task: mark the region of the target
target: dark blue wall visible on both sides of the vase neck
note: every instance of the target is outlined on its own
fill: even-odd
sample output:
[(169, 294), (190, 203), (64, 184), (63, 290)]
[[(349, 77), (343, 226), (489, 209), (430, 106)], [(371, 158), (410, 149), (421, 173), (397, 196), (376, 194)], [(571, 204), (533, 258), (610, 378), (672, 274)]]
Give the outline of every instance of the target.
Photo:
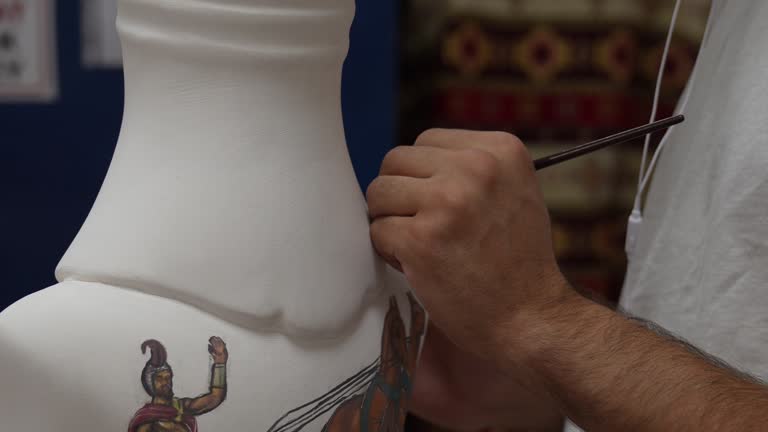
[[(0, 311), (53, 285), (117, 141), (122, 74), (80, 66), (80, 12), (58, 2), (60, 100), (0, 105)], [(358, 0), (343, 106), (361, 186), (395, 140), (395, 3)]]

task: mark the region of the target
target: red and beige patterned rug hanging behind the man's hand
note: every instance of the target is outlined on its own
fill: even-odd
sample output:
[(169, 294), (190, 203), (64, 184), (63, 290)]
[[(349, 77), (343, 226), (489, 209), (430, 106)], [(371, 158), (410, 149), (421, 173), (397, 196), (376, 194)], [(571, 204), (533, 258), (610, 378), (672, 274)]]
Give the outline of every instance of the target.
[[(673, 2), (413, 0), (403, 17), (400, 142), (423, 130), (505, 130), (534, 156), (648, 121)], [(673, 111), (709, 11), (684, 3), (660, 115)], [(576, 285), (615, 299), (641, 143), (541, 175)]]

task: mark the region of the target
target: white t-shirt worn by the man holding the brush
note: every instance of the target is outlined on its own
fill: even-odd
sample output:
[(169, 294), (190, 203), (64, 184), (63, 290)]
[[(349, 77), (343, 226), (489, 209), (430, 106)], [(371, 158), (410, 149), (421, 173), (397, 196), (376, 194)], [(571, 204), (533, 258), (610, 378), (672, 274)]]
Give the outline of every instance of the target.
[(768, 2), (713, 1), (685, 98), (621, 304), (768, 378)]

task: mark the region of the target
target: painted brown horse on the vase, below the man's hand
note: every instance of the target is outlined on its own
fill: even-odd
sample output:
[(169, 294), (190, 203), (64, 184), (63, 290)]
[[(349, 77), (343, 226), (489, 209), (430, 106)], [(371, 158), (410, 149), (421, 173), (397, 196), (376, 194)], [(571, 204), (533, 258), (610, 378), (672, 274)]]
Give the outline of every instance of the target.
[(410, 337), (400, 317), (397, 301), (390, 299), (381, 338), (381, 364), (366, 392), (347, 400), (323, 432), (402, 432), (408, 411), (413, 371), (426, 326), (421, 305), (408, 296), (411, 306)]

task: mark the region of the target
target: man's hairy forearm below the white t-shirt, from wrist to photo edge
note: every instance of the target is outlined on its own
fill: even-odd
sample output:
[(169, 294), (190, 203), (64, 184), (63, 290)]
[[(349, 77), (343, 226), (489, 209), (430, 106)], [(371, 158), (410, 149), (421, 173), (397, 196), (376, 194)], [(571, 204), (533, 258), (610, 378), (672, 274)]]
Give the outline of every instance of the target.
[(752, 431), (768, 391), (748, 377), (606, 307), (574, 296), (515, 336), (510, 357), (592, 432)]

